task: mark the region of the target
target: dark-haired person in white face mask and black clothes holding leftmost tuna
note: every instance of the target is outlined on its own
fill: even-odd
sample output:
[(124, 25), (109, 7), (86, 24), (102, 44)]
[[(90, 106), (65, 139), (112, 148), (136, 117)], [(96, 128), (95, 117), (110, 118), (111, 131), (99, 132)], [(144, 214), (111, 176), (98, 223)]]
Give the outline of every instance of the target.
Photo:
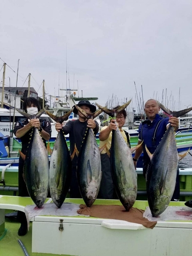
[[(37, 99), (33, 97), (28, 97), (24, 100), (23, 109), (26, 113), (30, 115), (35, 115), (40, 111), (40, 104)], [(39, 133), (46, 146), (46, 140), (51, 138), (51, 123), (49, 121), (42, 120), (43, 118), (28, 119), (26, 118), (22, 122), (16, 122), (14, 125), (13, 133), (17, 138), (22, 141), (22, 153), (26, 155), (27, 147), (31, 138), (31, 133), (33, 127), (39, 130)], [(23, 167), (24, 160), (19, 156), (19, 166), (18, 166), (18, 196), (29, 197), (27, 186), (23, 178)], [(27, 219), (25, 213), (18, 211), (17, 220), (21, 223), (18, 229), (18, 235), (24, 236), (27, 233)]]

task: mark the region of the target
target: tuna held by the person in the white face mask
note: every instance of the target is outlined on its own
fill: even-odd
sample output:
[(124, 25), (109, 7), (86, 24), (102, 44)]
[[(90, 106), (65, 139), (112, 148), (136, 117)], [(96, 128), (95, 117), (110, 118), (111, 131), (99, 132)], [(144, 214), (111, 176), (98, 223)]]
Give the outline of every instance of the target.
[[(17, 111), (29, 119), (38, 118), (44, 113), (44, 110), (41, 110), (32, 116), (18, 109)], [(49, 191), (49, 158), (42, 137), (35, 127), (32, 129), (25, 156), (24, 174), (28, 193), (36, 206), (40, 208)]]

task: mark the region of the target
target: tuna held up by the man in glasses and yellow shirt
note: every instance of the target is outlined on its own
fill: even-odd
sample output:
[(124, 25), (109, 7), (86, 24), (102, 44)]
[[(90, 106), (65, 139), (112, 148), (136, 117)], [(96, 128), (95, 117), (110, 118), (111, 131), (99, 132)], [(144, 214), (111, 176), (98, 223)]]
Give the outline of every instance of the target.
[[(109, 110), (98, 105), (106, 114), (116, 116), (129, 105), (131, 100), (116, 110)], [(119, 200), (126, 210), (130, 210), (137, 197), (137, 173), (135, 170), (132, 151), (124, 141), (119, 129), (112, 131), (111, 171), (115, 190)]]

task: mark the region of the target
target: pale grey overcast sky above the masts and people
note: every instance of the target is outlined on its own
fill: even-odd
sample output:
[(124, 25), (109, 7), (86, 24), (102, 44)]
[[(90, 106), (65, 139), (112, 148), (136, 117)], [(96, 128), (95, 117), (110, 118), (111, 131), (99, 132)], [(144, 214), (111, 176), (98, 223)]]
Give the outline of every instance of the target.
[(156, 98), (172, 110), (187, 108), (191, 10), (191, 0), (2, 0), (0, 77), (5, 61), (15, 87), (19, 59), (17, 86), (27, 87), (31, 73), (39, 96), (45, 79), (48, 97), (67, 86), (101, 105), (132, 98), (137, 111), (142, 98)]

